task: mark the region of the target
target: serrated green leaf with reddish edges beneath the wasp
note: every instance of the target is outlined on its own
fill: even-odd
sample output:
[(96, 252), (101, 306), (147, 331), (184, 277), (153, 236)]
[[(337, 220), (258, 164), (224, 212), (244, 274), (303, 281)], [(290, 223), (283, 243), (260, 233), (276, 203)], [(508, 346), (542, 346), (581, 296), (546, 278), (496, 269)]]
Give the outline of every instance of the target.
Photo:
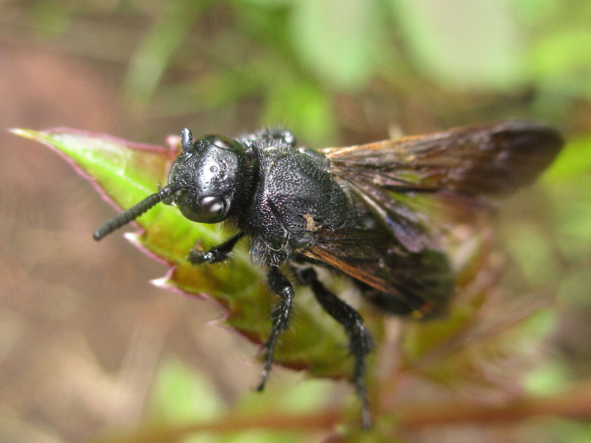
[[(57, 128), (12, 132), (56, 150), (86, 177), (105, 200), (130, 207), (165, 183), (178, 144), (135, 144), (106, 135)], [(228, 310), (224, 321), (254, 343), (263, 343), (271, 328), (269, 313), (274, 297), (264, 284), (264, 273), (245, 251), (245, 242), (228, 263), (194, 266), (186, 255), (199, 240), (205, 247), (220, 243), (229, 233), (218, 227), (193, 223), (176, 207), (158, 204), (137, 219), (140, 232), (126, 239), (148, 255), (170, 266), (154, 284), (190, 295), (207, 294)], [(91, 233), (89, 232), (89, 239)], [(94, 245), (94, 247), (100, 247)], [(338, 283), (338, 281), (337, 281)], [(324, 315), (309, 292), (298, 290), (294, 320), (280, 340), (275, 361), (309, 369), (316, 376), (347, 376), (352, 367), (342, 328)], [(367, 319), (371, 323), (371, 315)], [(376, 327), (379, 331), (379, 328)]]

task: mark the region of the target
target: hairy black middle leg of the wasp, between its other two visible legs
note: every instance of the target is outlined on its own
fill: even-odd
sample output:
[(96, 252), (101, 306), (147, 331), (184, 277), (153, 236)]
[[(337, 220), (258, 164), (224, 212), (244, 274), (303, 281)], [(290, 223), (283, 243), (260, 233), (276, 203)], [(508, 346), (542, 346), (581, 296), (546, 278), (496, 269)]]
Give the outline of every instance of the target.
[(263, 390), (265, 387), (269, 372), (271, 372), (275, 344), (277, 344), (279, 334), (287, 329), (290, 320), (291, 302), (294, 298), (293, 286), (291, 286), (290, 281), (281, 273), (277, 266), (271, 266), (271, 269), (269, 269), (269, 273), (267, 274), (267, 284), (271, 288), (273, 294), (278, 295), (279, 300), (271, 312), (273, 326), (271, 328), (269, 340), (267, 340), (267, 343), (265, 343), (264, 346), (265, 366), (261, 374), (261, 383), (256, 387), (256, 390), (259, 391)]

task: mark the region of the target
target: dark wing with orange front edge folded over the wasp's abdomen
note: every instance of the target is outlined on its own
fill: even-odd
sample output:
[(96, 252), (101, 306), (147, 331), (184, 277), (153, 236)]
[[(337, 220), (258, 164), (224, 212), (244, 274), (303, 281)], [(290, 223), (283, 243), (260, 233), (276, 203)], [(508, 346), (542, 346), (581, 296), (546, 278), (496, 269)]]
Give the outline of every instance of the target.
[(441, 251), (407, 252), (383, 227), (365, 232), (320, 229), (305, 250), (361, 282), (365, 297), (384, 310), (415, 318), (439, 317), (454, 291), (450, 263)]

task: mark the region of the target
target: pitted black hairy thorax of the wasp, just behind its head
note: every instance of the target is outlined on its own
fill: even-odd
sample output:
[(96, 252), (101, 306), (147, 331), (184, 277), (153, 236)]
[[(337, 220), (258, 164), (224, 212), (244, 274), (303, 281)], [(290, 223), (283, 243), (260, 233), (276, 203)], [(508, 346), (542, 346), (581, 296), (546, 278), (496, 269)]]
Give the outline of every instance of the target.
[(352, 204), (327, 170), (327, 160), (310, 149), (256, 146), (258, 180), (251, 201), (237, 221), (252, 239), (252, 250), (262, 263), (279, 264), (314, 244), (314, 232), (345, 226)]

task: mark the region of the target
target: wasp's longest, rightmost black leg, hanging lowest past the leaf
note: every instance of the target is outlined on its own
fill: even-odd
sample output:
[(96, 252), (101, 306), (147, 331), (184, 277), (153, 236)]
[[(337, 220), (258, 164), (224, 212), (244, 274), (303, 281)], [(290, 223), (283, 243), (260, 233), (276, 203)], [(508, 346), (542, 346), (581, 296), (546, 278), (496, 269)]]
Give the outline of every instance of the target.
[(311, 287), (314, 297), (316, 297), (324, 311), (328, 312), (332, 318), (342, 324), (349, 334), (349, 350), (355, 358), (352, 381), (355, 383), (357, 395), (361, 398), (362, 425), (363, 428), (367, 429), (371, 427), (371, 415), (368, 409), (368, 398), (363, 375), (365, 374), (365, 357), (374, 348), (374, 340), (372, 340), (371, 333), (365, 327), (363, 318), (359, 315), (359, 312), (328, 291), (322, 282), (319, 281), (316, 271), (313, 268), (297, 269), (296, 275), (302, 284)]

